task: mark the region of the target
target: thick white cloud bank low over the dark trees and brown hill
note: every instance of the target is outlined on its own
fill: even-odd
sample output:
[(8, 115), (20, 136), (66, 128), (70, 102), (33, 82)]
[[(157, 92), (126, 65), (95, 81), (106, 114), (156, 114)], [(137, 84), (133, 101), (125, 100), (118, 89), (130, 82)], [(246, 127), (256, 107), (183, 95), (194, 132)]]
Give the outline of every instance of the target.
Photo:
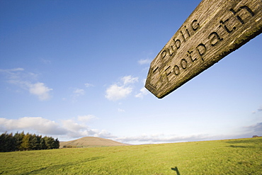
[[(93, 115), (86, 115), (93, 118)], [(85, 120), (84, 116), (79, 117)], [(77, 123), (75, 120), (61, 120), (61, 123), (40, 117), (24, 117), (18, 119), (0, 118), (0, 132), (33, 132), (38, 135), (55, 135), (56, 137), (67, 137), (73, 139), (76, 137), (96, 136), (96, 137), (114, 137), (106, 130), (89, 129), (89, 126), (83, 123)]]

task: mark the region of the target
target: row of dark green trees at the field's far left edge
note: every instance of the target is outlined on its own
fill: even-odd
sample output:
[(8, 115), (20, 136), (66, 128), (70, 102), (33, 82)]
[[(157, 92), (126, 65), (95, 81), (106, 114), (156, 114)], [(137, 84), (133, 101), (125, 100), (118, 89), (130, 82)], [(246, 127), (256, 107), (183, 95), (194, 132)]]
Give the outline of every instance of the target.
[(0, 135), (0, 152), (57, 148), (59, 148), (59, 140), (53, 137), (42, 137), (42, 135), (25, 134), (24, 132), (16, 132), (14, 135), (4, 132)]

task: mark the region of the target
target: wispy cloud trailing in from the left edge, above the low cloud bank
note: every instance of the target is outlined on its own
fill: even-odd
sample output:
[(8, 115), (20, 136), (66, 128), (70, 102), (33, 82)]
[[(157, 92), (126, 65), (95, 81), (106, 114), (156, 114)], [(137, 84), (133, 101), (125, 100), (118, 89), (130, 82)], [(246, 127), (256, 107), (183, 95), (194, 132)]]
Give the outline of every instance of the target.
[(52, 89), (44, 83), (37, 81), (38, 74), (25, 72), (23, 68), (0, 69), (0, 72), (6, 74), (8, 83), (15, 84), (28, 91), (30, 94), (38, 96), (40, 101), (48, 100), (51, 97), (50, 91), (52, 91)]

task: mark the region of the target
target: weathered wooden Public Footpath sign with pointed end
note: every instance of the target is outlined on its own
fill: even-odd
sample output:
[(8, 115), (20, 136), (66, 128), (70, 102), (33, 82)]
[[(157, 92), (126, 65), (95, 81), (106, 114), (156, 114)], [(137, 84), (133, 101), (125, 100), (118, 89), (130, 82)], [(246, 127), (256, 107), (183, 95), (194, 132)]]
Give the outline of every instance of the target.
[(261, 32), (261, 0), (203, 0), (152, 61), (145, 87), (163, 98)]

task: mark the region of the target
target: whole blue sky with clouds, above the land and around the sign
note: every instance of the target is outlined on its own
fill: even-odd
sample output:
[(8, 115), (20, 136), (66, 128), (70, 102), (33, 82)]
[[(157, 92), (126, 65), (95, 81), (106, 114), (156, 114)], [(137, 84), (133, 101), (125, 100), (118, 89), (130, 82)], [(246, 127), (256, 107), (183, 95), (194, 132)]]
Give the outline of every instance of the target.
[(258, 35), (158, 99), (149, 64), (200, 1), (0, 1), (0, 132), (130, 144), (262, 135)]

